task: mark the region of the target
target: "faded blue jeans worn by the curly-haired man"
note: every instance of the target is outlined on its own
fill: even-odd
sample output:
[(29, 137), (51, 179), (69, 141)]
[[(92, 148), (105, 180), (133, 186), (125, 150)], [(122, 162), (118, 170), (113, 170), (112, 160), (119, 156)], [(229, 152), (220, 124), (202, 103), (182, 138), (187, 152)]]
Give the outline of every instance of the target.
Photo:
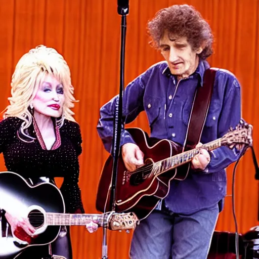
[(131, 259), (206, 259), (219, 206), (192, 214), (154, 210), (133, 234)]

